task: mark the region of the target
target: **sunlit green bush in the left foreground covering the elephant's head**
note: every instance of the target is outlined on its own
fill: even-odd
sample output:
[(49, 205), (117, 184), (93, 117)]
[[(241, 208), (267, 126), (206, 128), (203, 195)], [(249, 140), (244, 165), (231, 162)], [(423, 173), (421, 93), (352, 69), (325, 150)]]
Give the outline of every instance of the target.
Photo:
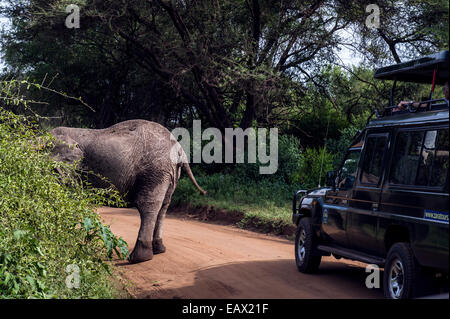
[[(81, 182), (75, 166), (53, 161), (50, 143), (0, 106), (0, 298), (121, 296), (107, 260), (113, 252), (126, 257), (127, 246), (96, 208), (123, 202), (112, 189)], [(73, 178), (63, 179), (57, 166)], [(79, 269), (78, 288), (66, 285), (70, 265)]]

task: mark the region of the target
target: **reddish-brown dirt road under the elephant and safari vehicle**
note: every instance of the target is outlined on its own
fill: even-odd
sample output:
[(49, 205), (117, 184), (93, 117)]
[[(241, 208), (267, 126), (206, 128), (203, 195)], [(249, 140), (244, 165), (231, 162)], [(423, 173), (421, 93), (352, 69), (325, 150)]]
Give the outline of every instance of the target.
[[(133, 209), (101, 208), (103, 220), (132, 249), (139, 229)], [(166, 253), (117, 264), (137, 298), (382, 298), (365, 286), (365, 264), (325, 257), (320, 272), (301, 274), (294, 244), (232, 226), (168, 216)]]

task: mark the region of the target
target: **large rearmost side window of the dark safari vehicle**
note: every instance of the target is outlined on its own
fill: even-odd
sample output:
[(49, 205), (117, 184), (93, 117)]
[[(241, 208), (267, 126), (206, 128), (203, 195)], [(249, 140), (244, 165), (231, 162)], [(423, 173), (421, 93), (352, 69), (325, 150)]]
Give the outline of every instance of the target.
[(399, 132), (394, 154), (390, 183), (428, 187), (446, 185), (448, 129)]

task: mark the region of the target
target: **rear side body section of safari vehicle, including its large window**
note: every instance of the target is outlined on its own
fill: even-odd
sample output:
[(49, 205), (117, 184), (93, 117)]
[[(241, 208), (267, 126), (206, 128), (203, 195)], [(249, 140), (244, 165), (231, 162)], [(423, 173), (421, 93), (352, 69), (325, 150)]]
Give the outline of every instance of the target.
[[(448, 123), (398, 129), (380, 210), (414, 227), (416, 258), (429, 267), (448, 267), (448, 167)], [(392, 223), (380, 219), (380, 239)]]

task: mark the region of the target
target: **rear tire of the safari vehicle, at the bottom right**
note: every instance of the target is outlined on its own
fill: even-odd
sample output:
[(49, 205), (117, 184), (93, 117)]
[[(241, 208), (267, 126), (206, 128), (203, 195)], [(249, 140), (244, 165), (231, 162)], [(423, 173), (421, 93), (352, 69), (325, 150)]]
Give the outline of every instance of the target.
[(388, 252), (383, 275), (384, 296), (388, 299), (414, 298), (419, 293), (420, 266), (409, 243), (396, 243)]

